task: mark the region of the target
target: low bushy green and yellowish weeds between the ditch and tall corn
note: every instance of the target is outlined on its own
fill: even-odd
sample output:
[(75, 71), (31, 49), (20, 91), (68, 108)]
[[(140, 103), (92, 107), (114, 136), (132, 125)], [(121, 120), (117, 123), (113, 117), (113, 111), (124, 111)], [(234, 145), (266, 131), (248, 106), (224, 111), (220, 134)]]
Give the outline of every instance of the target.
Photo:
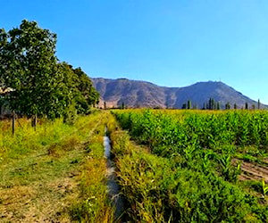
[[(142, 123), (148, 124), (146, 121)], [(155, 123), (161, 122), (158, 119)], [(130, 123), (124, 122), (124, 124)], [(149, 129), (159, 131), (152, 126), (144, 127), (147, 131)], [(129, 205), (130, 220), (136, 222), (267, 221), (268, 210), (260, 206), (255, 197), (246, 194), (238, 186), (225, 181), (212, 171), (207, 171), (205, 166), (205, 169), (202, 169), (202, 165), (205, 165), (203, 160), (206, 160), (208, 165), (208, 162), (216, 159), (213, 151), (210, 151), (211, 153), (193, 152), (199, 156), (198, 159), (190, 157), (192, 154), (190, 152), (188, 157), (176, 154), (161, 157), (132, 144), (126, 132), (113, 129), (111, 139), (121, 192)], [(145, 139), (139, 137), (141, 142)], [(190, 150), (189, 146), (187, 148)], [(154, 150), (153, 147), (151, 149)], [(193, 163), (189, 164), (187, 159), (192, 160)], [(223, 167), (224, 164), (222, 169)]]

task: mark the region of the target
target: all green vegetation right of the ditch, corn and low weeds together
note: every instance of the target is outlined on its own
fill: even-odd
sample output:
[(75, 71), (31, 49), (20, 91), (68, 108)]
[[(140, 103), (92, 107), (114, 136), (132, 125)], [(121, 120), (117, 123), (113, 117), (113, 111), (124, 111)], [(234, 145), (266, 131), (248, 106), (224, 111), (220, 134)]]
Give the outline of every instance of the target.
[[(114, 111), (122, 128), (151, 153), (112, 135), (122, 193), (130, 218), (172, 222), (266, 222), (262, 198), (236, 180), (238, 148), (254, 145), (266, 153), (265, 111)], [(130, 149), (131, 148), (131, 149)], [(132, 214), (131, 214), (132, 213)], [(136, 217), (135, 217), (136, 216)], [(135, 219), (138, 218), (138, 219)]]

